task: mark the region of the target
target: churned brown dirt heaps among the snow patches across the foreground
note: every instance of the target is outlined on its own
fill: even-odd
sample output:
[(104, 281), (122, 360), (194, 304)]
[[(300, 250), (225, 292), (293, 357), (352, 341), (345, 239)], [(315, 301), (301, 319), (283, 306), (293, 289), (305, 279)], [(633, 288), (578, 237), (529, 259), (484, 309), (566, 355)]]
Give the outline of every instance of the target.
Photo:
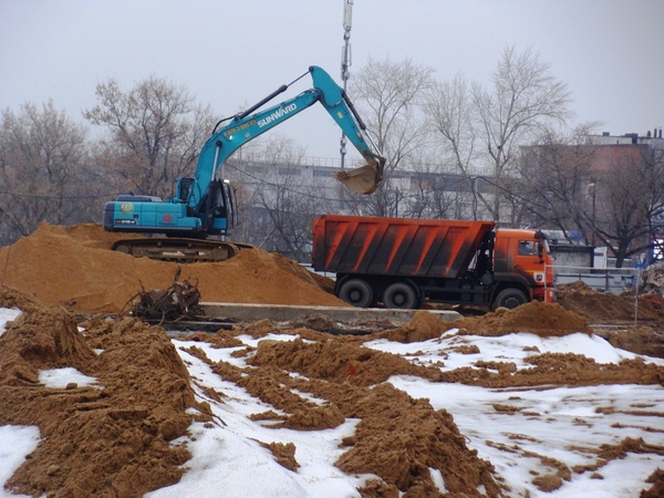
[[(194, 380), (160, 328), (134, 319), (95, 318), (82, 323), (85, 330), (81, 333), (71, 313), (42, 307), (33, 297), (3, 288), (0, 288), (0, 307), (25, 310), (0, 336), (0, 424), (37, 425), (42, 438), (9, 481), (12, 491), (32, 496), (131, 498), (179, 480), (190, 455), (186, 446), (170, 446), (169, 442), (185, 434), (194, 419), (210, 422), (210, 409), (195, 400), (190, 385)], [(487, 315), (485, 321), (492, 320), (498, 328), (502, 323), (507, 330), (508, 323), (518, 323), (519, 315), (525, 320), (532, 310), (559, 313), (557, 323), (575, 320), (573, 313), (564, 315), (558, 311), (559, 307), (536, 305), (530, 311), (523, 308), (521, 314), (500, 312), (492, 318)], [(477, 328), (481, 332), (484, 322), (476, 323), (481, 325)], [(449, 323), (423, 311), (401, 330), (406, 340), (429, 336), (435, 341), (448, 326)], [(469, 338), (466, 335), (469, 326), (458, 338)], [(257, 347), (237, 349), (243, 344), (240, 335), (264, 338), (281, 333), (302, 339), (263, 339)], [(437, 496), (438, 488), (428, 469), (440, 471), (449, 496), (510, 494), (494, 466), (468, 448), (450, 414), (386, 383), (392, 375), (491, 387), (652, 384), (662, 383), (663, 378), (663, 367), (641, 361), (599, 365), (579, 355), (538, 351), (531, 351), (527, 359), (532, 369), (519, 372), (513, 365), (481, 360), (473, 369), (442, 372), (436, 365), (408, 362), (401, 355), (364, 346), (365, 341), (384, 334), (330, 336), (307, 329), (281, 330), (262, 320), (231, 331), (188, 336), (216, 347), (235, 349), (234, 356), (246, 357), (246, 367), (212, 361), (197, 346), (187, 347), (187, 352), (204, 360), (225, 381), (238, 384), (270, 406), (253, 414), (253, 419), (270, 421), (276, 427), (292, 430), (324, 429), (338, 427), (349, 418), (359, 419), (353, 436), (342, 442), (344, 453), (335, 465), (349, 474), (380, 476), (382, 480), (370, 480), (359, 490), (366, 497)], [(449, 347), (454, 343), (448, 343)], [(440, 346), (447, 347), (443, 343)], [(39, 382), (39, 371), (54, 366), (75, 367), (94, 377), (96, 384), (46, 388)], [(317, 401), (301, 393), (310, 393)], [(206, 388), (206, 395), (220, 402), (225, 394), (210, 387)], [(520, 408), (497, 405), (495, 409), (511, 413)], [(625, 452), (661, 450), (661, 447), (644, 447), (643, 442), (631, 443), (630, 448), (616, 446), (611, 454), (611, 448), (599, 448), (604, 458), (602, 465), (622, 458)], [(264, 446), (281, 465), (298, 468), (294, 445), (266, 443)], [(560, 480), (571, 471), (583, 470), (554, 464), (560, 464), (560, 476), (544, 477)], [(653, 479), (656, 483), (652, 492), (656, 492), (661, 479)], [(541, 476), (533, 483), (541, 490), (560, 486)]]

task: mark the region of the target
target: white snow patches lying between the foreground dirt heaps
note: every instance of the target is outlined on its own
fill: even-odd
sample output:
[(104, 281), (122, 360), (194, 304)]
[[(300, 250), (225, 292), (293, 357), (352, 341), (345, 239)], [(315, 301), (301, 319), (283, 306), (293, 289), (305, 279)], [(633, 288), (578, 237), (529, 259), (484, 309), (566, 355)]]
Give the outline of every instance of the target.
[[(18, 310), (0, 309), (0, 334), (7, 321), (15, 319)], [(247, 345), (257, 341), (248, 335), (239, 336)], [(290, 341), (294, 335), (271, 335), (268, 339)], [(455, 345), (473, 343), (478, 354), (460, 354), (450, 351)], [(250, 396), (243, 388), (224, 381), (210, 367), (183, 349), (196, 345), (212, 361), (224, 360), (243, 366), (242, 357), (231, 355), (235, 349), (215, 349), (201, 342), (174, 340), (178, 353), (189, 369), (197, 395), (210, 404), (218, 424), (204, 428), (195, 423), (191, 436), (175, 440), (187, 444), (193, 458), (187, 461), (189, 470), (177, 485), (146, 495), (149, 498), (180, 496), (206, 497), (354, 497), (355, 491), (372, 476), (347, 476), (334, 461), (342, 450), (342, 438), (353, 434), (359, 421), (347, 419), (334, 429), (299, 432), (273, 429), (268, 422), (253, 422), (251, 414), (273, 409)], [(499, 338), (456, 336), (446, 333), (439, 340), (402, 344), (385, 340), (365, 344), (380, 351), (400, 354), (421, 364), (436, 363), (443, 370), (470, 366), (479, 359), (513, 362), (518, 369), (528, 367), (525, 347), (544, 352), (574, 352), (594, 359), (599, 363), (616, 363), (636, 356), (611, 346), (598, 336), (572, 334), (563, 338), (539, 338), (530, 333), (509, 334)], [(446, 350), (443, 355), (442, 351)], [(642, 356), (643, 357), (643, 356)], [(644, 357), (646, 362), (664, 364), (664, 360)], [(80, 385), (92, 383), (74, 369), (43, 371), (40, 380), (53, 387), (70, 382)], [(556, 387), (499, 390), (466, 386), (461, 384), (430, 383), (419, 377), (393, 376), (397, 388), (413, 397), (426, 397), (435, 408), (445, 408), (453, 416), (467, 445), (477, 449), (481, 458), (490, 460), (513, 496), (558, 497), (637, 497), (644, 481), (657, 467), (663, 468), (661, 457), (652, 454), (627, 454), (612, 460), (600, 469), (603, 478), (592, 473), (574, 474), (553, 492), (539, 491), (532, 484), (533, 473), (547, 474), (544, 458), (554, 458), (569, 467), (595, 461), (596, 455), (584, 448), (603, 444), (618, 444), (625, 437), (643, 438), (649, 444), (664, 445), (662, 432), (649, 430), (660, 418), (643, 414), (664, 413), (664, 390), (658, 385), (601, 385), (588, 387)], [(204, 387), (224, 393), (224, 403), (208, 398)], [(499, 411), (495, 406), (510, 406), (513, 411)], [(599, 407), (610, 407), (598, 412)], [(655, 419), (653, 419), (655, 418)], [(615, 427), (620, 426), (620, 430)], [(293, 443), (295, 459), (301, 465), (297, 473), (274, 461), (270, 450), (258, 440)], [(0, 483), (9, 479), (39, 443), (37, 427), (0, 426)], [(509, 450), (506, 450), (509, 449)], [(550, 473), (550, 468), (548, 469)], [(440, 487), (444, 484), (440, 479)], [(14, 497), (0, 489), (0, 497)]]

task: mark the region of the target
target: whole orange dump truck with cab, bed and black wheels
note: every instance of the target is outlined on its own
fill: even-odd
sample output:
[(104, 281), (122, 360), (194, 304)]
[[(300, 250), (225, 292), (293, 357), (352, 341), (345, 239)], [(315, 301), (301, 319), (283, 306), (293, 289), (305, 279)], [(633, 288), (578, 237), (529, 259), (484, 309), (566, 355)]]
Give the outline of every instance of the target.
[(543, 234), (492, 221), (325, 215), (313, 221), (312, 263), (336, 273), (335, 294), (363, 308), (553, 300)]

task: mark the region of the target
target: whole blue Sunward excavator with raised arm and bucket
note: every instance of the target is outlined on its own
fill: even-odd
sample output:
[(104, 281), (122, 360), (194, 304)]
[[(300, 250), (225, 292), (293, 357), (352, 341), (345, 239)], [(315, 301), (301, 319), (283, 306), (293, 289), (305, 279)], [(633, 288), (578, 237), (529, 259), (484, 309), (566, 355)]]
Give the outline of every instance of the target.
[[(232, 190), (220, 177), (222, 165), (239, 147), (317, 102), (325, 107), (366, 160), (365, 166), (343, 169), (333, 176), (357, 194), (373, 193), (383, 178), (385, 158), (366, 134), (366, 126), (343, 89), (321, 68), (309, 68), (309, 74), (313, 86), (295, 97), (258, 111), (294, 82), (281, 85), (248, 110), (217, 123), (200, 151), (196, 173), (178, 178), (172, 197), (121, 195), (106, 203), (105, 230), (165, 236), (132, 237), (118, 240), (112, 249), (136, 257), (191, 262), (221, 261), (250, 247), (208, 239), (209, 236), (230, 235), (236, 225)], [(226, 121), (230, 123), (220, 127)]]

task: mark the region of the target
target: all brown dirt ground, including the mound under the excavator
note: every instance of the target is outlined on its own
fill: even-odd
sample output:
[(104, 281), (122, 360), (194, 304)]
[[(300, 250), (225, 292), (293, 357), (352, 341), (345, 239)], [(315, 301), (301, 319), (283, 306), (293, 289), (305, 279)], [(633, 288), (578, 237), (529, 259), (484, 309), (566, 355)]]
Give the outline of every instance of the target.
[[(529, 455), (518, 438), (510, 447), (495, 444), (502, 452), (540, 458), (552, 469), (531, 475), (523, 488), (516, 490), (501, 477), (501, 469), (468, 446), (468, 437), (447, 411), (434, 409), (426, 398), (415, 400), (387, 382), (392, 375), (412, 375), (515, 393), (526, 386), (633, 384), (661, 388), (664, 366), (649, 361), (664, 359), (664, 304), (657, 293), (602, 294), (579, 283), (560, 289), (554, 304), (535, 302), (486, 312), (425, 303), (424, 310), (407, 320), (378, 315), (341, 320), (325, 312), (351, 309), (333, 295), (332, 280), (279, 255), (248, 249), (220, 263), (178, 266), (113, 252), (110, 247), (118, 238), (98, 225), (42, 225), (29, 237), (0, 248), (0, 308), (22, 311), (0, 335), (0, 426), (37, 426), (41, 435), (39, 446), (8, 479), (6, 492), (138, 497), (183, 478), (191, 454), (172, 442), (187, 435), (194, 423), (217, 424), (210, 403), (222, 404), (225, 393), (207, 390), (207, 402), (197, 394), (196, 380), (174, 346), (177, 328), (167, 333), (168, 328), (151, 325), (128, 313), (132, 299), (142, 289), (168, 288), (181, 267), (181, 277), (196, 284), (206, 303), (252, 304), (249, 315), (219, 324), (218, 331), (186, 331), (187, 344), (198, 342), (220, 350), (241, 345), (234, 354), (245, 359), (246, 367), (212, 362), (191, 345), (187, 354), (273, 406), (274, 411), (260, 417), (280, 426), (309, 432), (336, 427), (351, 418), (361, 421), (353, 437), (344, 439), (344, 453), (335, 464), (347, 475), (375, 476), (357, 486), (357, 496), (554, 492), (587, 471), (601, 479), (602, 466), (627, 453), (646, 454), (660, 463), (658, 470), (644, 476), (631, 496), (664, 496), (664, 412), (656, 403), (633, 407), (647, 413), (650, 422), (642, 429), (652, 434), (652, 439), (624, 437), (612, 447), (584, 448), (596, 455), (594, 468)], [(269, 320), (261, 310), (270, 307), (313, 308), (298, 318)], [(463, 339), (464, 344), (456, 346), (465, 349), (463, 354), (478, 354), (474, 336), (512, 333), (540, 338), (594, 334), (640, 356), (602, 365), (583, 355), (531, 351), (536, 366), (528, 373), (499, 357), (481, 357), (473, 369), (443, 372), (435, 364), (376, 353), (365, 345), (371, 341), (423, 343), (453, 334)], [(279, 334), (298, 339), (264, 339)], [(258, 340), (257, 346), (242, 343), (239, 338), (245, 336)], [(94, 376), (104, 388), (74, 384), (53, 390), (40, 382), (41, 371), (63, 367)], [(307, 402), (298, 395), (301, 392), (313, 393), (325, 403)], [(494, 408), (511, 409), (510, 414), (519, 411), (508, 405)], [(390, 427), (387, 433), (385, 427)], [(281, 466), (298, 471), (302, 463), (297, 461), (294, 447), (268, 446)], [(445, 491), (427, 468), (440, 470)]]

